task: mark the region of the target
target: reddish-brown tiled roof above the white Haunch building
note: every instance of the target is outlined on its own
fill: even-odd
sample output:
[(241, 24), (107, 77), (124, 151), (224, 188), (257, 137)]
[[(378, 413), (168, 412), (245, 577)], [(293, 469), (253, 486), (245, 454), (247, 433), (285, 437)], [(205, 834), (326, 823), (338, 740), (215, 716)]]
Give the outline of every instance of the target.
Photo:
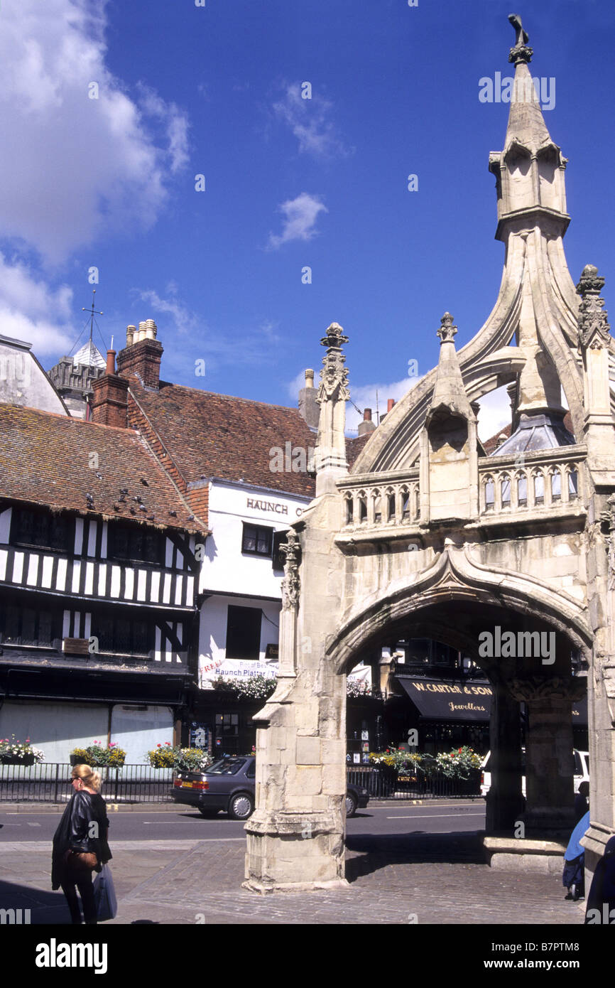
[[(130, 377), (130, 392), (186, 484), (203, 476), (223, 477), (314, 496), (314, 477), (270, 468), (271, 450), (283, 454), (289, 443), (290, 451), (305, 450), (307, 457), (316, 445), (316, 433), (298, 409), (166, 381), (156, 391), (144, 388), (134, 376)], [(130, 417), (131, 425), (137, 423), (138, 418)]]

